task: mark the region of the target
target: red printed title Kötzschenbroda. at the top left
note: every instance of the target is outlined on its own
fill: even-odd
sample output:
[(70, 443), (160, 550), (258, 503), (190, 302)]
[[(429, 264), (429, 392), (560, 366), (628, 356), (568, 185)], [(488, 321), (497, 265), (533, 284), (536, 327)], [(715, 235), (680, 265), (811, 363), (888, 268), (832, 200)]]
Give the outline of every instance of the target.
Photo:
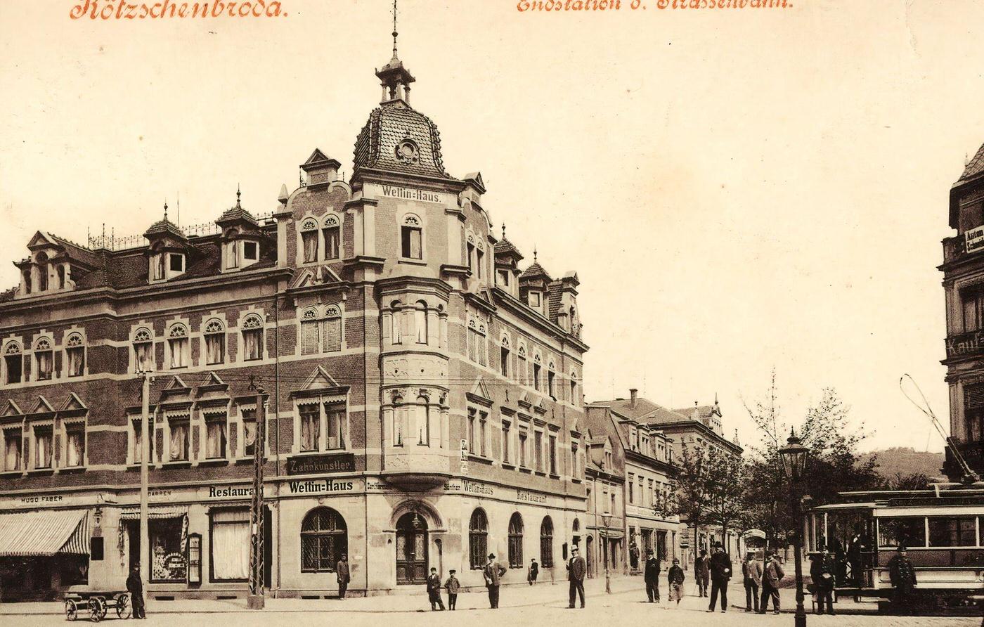
[(163, 18), (279, 18), (287, 13), (277, 0), (243, 2), (127, 2), (126, 0), (78, 0), (69, 17), (73, 20), (159, 20)]

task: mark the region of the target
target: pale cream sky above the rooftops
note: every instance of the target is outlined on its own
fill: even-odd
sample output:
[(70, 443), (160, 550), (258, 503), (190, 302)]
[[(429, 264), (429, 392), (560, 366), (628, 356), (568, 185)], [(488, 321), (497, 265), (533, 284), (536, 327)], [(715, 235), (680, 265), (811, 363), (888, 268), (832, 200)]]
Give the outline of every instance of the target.
[[(178, 195), (183, 224), (211, 221), (237, 184), (269, 211), (315, 147), (351, 172), (390, 3), (281, 3), (93, 22), (69, 19), (76, 0), (0, 2), (0, 285), (37, 229), (142, 233)], [(949, 426), (936, 266), (984, 142), (984, 3), (648, 4), (400, 0), (411, 103), (447, 168), (482, 172), (524, 263), (535, 245), (554, 276), (578, 272), (587, 399), (716, 392), (748, 442), (741, 399), (774, 366), (790, 415), (832, 386), (875, 429), (865, 448), (942, 450), (898, 378)]]

